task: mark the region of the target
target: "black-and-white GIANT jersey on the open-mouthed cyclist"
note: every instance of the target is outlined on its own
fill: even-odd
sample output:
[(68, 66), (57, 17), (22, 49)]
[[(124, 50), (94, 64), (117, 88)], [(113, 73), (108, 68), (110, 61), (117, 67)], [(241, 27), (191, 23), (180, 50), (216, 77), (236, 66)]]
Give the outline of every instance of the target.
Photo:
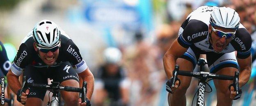
[[(215, 52), (209, 42), (210, 13), (219, 7), (202, 6), (194, 10), (181, 25), (178, 43), (185, 48), (195, 46), (203, 52)], [(245, 59), (251, 55), (251, 35), (240, 24), (235, 36), (220, 53), (237, 51), (237, 57)]]

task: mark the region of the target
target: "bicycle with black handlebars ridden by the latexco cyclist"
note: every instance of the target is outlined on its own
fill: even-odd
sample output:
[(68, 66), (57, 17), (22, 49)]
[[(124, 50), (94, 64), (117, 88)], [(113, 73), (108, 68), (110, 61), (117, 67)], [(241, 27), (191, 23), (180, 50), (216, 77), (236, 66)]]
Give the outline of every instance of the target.
[[(87, 82), (83, 82), (82, 88), (72, 87), (72, 86), (60, 86), (59, 82), (51, 82), (52, 84), (35, 84), (35, 83), (28, 83), (26, 80), (26, 76), (23, 77), (22, 82), (22, 88), (21, 92), (25, 93), (25, 90), (27, 88), (37, 88), (37, 89), (46, 89), (53, 93), (52, 100), (50, 101), (50, 95), (49, 95), (49, 101), (47, 103), (47, 106), (59, 106), (60, 103), (60, 97), (59, 97), (59, 91), (69, 91), (69, 92), (78, 92), (80, 93), (80, 97), (82, 99), (82, 103), (86, 103), (87, 97)], [(21, 94), (21, 93), (20, 93)], [(19, 95), (21, 96), (21, 95)], [(87, 105), (89, 106), (89, 105)]]

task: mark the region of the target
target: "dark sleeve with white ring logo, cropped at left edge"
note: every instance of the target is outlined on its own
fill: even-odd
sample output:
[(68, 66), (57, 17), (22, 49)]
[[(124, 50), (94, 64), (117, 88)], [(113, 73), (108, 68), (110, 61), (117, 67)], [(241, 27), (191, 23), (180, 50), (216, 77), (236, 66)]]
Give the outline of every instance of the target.
[(6, 76), (10, 67), (11, 63), (7, 57), (5, 47), (0, 41), (0, 77)]

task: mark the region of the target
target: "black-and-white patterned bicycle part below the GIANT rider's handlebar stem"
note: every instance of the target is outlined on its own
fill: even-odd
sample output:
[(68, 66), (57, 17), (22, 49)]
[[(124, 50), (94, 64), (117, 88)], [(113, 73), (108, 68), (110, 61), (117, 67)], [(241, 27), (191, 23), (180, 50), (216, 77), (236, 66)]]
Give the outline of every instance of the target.
[(204, 94), (206, 90), (206, 82), (201, 81), (199, 79), (199, 84), (198, 84), (199, 91), (197, 92), (197, 106), (205, 106), (204, 104)]

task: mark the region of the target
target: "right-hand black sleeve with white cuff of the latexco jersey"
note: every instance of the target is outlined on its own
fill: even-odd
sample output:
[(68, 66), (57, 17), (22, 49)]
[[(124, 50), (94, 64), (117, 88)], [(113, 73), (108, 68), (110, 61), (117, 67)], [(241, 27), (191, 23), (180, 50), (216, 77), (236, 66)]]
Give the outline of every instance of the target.
[(73, 66), (74, 70), (77, 73), (85, 71), (87, 68), (87, 64), (85, 60), (82, 58), (78, 47), (74, 44), (72, 40), (68, 40), (65, 50), (66, 56), (69, 59), (68, 61)]

